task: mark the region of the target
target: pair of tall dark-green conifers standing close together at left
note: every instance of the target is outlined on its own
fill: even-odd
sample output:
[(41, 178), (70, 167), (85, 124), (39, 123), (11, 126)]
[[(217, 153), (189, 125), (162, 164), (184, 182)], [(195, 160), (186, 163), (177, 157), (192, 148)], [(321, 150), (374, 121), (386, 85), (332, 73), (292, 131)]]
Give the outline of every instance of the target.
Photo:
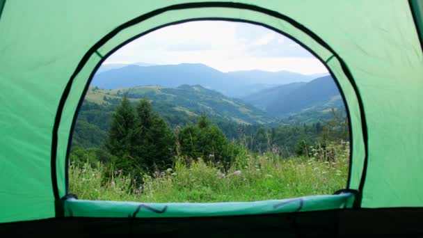
[(166, 122), (152, 111), (147, 100), (140, 100), (135, 109), (127, 97), (113, 113), (104, 144), (113, 155), (113, 164), (125, 171), (159, 170), (172, 166), (175, 134)]

